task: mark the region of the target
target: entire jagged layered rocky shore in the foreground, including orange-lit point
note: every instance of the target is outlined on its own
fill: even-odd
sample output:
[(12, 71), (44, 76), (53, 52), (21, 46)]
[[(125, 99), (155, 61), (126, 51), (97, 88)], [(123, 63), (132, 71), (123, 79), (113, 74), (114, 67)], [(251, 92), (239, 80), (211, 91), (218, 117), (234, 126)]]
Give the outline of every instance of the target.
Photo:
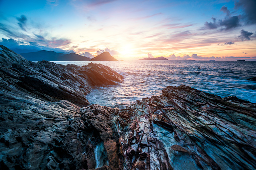
[(256, 168), (255, 103), (180, 85), (121, 110), (90, 105), (92, 88), (123, 77), (0, 50), (0, 169)]

